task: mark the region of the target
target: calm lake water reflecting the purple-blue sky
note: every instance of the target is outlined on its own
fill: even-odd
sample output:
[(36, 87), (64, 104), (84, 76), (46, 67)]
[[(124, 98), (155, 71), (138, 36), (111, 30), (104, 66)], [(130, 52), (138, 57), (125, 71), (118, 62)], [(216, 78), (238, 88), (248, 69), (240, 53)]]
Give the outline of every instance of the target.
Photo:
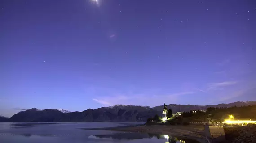
[[(0, 122), (0, 143), (195, 143), (167, 135), (90, 130), (141, 122), (29, 123)], [(86, 128), (86, 130), (81, 129)]]

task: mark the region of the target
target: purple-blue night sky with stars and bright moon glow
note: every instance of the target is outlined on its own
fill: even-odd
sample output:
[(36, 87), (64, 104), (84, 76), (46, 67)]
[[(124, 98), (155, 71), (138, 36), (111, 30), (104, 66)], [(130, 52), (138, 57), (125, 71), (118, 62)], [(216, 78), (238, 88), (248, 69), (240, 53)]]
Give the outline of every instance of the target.
[(0, 0), (0, 115), (256, 100), (255, 25), (255, 0)]

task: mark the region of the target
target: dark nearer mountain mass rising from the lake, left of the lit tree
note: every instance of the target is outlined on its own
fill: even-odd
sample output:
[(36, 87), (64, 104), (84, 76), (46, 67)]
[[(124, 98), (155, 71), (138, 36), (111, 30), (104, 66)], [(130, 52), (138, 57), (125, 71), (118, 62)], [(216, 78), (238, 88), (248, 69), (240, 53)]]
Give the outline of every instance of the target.
[(134, 105), (115, 105), (70, 113), (57, 109), (32, 108), (13, 115), (9, 122), (135, 122), (146, 121), (155, 114), (160, 115), (161, 112)]

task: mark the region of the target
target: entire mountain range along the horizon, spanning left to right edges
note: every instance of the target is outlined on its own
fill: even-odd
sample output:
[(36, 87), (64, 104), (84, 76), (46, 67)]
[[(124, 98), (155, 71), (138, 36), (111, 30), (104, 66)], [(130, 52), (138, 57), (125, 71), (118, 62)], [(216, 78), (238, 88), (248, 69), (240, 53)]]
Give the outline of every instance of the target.
[[(218, 105), (177, 105), (169, 104), (173, 113), (190, 110), (206, 110), (209, 107), (228, 108), (233, 106), (256, 105), (256, 101), (234, 102)], [(0, 122), (135, 122), (146, 121), (158, 114), (162, 116), (163, 105), (150, 108), (148, 106), (114, 105), (98, 109), (87, 109), (82, 112), (70, 112), (64, 109), (27, 109), (14, 114), (11, 118), (0, 117)]]

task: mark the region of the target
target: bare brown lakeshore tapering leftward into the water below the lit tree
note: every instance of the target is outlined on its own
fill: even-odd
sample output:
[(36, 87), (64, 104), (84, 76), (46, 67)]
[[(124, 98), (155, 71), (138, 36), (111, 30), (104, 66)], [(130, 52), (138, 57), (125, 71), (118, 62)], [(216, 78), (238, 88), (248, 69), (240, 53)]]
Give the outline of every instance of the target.
[(173, 125), (140, 125), (140, 126), (119, 126), (109, 128), (81, 128), (84, 130), (111, 130), (122, 132), (148, 133), (155, 135), (170, 135), (180, 138), (192, 139), (205, 143), (204, 126), (173, 126)]

